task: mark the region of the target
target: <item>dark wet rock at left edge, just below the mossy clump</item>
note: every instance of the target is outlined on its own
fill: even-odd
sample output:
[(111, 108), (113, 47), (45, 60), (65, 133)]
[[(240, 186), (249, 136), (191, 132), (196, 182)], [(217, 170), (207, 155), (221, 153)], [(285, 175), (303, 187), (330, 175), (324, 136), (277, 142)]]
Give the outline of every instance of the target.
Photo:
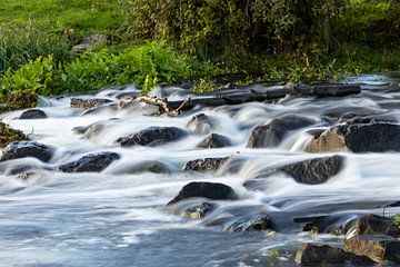
[(48, 162), (52, 157), (52, 149), (36, 141), (13, 141), (4, 148), (0, 161), (26, 157)]

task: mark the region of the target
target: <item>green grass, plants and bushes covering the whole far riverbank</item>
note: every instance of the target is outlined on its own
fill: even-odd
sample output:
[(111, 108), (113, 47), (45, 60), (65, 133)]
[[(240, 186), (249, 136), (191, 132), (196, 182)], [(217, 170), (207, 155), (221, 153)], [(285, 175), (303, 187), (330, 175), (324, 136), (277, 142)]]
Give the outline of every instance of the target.
[[(3, 0), (0, 100), (26, 107), (37, 95), (109, 85), (147, 93), (191, 79), (209, 91), (217, 77), (307, 81), (398, 71), (399, 28), (396, 0)], [(70, 52), (94, 33), (108, 41)]]

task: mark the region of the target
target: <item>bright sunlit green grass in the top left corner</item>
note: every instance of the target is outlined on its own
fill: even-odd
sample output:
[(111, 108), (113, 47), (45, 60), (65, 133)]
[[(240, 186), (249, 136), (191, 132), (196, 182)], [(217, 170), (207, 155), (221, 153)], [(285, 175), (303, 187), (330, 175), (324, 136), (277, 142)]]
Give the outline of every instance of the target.
[[(124, 22), (116, 0), (1, 0), (0, 26), (46, 32), (114, 33)], [(117, 7), (116, 7), (117, 6)]]

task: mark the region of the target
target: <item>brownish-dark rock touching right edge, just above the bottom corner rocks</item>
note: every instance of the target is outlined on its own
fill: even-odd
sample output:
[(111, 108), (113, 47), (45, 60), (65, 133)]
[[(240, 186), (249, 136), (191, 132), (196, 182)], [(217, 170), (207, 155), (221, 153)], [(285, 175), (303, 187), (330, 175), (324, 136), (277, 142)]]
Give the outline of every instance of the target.
[(344, 226), (346, 237), (350, 238), (358, 235), (387, 235), (397, 238), (400, 229), (390, 218), (377, 215), (363, 215)]

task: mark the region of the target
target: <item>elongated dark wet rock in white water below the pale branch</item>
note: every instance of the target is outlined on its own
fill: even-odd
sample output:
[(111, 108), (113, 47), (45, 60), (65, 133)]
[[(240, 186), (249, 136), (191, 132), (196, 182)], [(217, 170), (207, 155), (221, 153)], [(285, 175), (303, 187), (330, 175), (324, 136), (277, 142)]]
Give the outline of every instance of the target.
[(177, 127), (150, 127), (127, 137), (118, 138), (116, 144), (121, 147), (130, 146), (158, 146), (167, 142), (178, 141), (188, 134)]

